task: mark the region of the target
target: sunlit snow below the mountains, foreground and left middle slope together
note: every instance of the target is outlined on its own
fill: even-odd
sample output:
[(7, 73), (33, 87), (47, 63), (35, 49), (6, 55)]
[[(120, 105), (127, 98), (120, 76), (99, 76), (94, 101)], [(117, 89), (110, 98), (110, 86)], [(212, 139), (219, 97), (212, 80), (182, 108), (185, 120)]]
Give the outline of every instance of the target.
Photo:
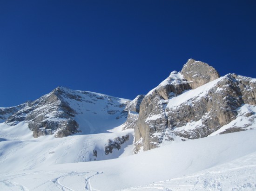
[[(11, 139), (7, 132), (10, 129), (1, 129), (0, 137)], [(133, 148), (129, 142), (123, 155), (116, 154), (120, 158), (81, 162), (82, 156), (89, 156), (90, 146), (100, 144), (97, 141), (106, 134), (1, 141), (0, 190), (255, 189), (256, 130), (172, 142), (130, 156), (125, 151)]]

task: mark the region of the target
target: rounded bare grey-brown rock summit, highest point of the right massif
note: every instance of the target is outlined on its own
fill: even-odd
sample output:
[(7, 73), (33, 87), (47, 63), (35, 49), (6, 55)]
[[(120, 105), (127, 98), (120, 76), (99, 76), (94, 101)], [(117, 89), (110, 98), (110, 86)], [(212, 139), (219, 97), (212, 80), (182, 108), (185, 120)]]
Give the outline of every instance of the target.
[(213, 67), (194, 59), (189, 59), (184, 64), (181, 73), (189, 82), (192, 89), (198, 88), (220, 77), (219, 73)]

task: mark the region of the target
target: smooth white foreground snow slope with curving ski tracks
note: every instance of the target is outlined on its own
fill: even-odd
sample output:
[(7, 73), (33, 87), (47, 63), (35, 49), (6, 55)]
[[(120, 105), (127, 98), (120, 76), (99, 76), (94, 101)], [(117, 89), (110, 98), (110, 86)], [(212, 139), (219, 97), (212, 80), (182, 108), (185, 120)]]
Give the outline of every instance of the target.
[[(256, 130), (250, 130), (173, 141), (169, 146), (119, 159), (1, 171), (0, 190), (114, 191), (128, 187), (133, 187), (128, 190), (253, 190), (256, 189), (255, 138)], [(1, 142), (1, 148), (3, 142), (7, 141)], [(45, 160), (52, 156), (45, 155)], [(26, 153), (20, 153), (20, 158), (23, 157)], [(12, 166), (12, 162), (1, 164), (1, 168)], [(159, 181), (163, 182), (156, 183)]]

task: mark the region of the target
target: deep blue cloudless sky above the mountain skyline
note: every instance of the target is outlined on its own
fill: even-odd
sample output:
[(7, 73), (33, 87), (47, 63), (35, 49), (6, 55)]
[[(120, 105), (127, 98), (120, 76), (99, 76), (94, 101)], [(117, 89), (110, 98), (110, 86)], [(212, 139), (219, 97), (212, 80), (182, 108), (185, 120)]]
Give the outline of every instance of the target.
[(1, 0), (0, 107), (57, 86), (133, 99), (189, 58), (256, 78), (255, 0)]

